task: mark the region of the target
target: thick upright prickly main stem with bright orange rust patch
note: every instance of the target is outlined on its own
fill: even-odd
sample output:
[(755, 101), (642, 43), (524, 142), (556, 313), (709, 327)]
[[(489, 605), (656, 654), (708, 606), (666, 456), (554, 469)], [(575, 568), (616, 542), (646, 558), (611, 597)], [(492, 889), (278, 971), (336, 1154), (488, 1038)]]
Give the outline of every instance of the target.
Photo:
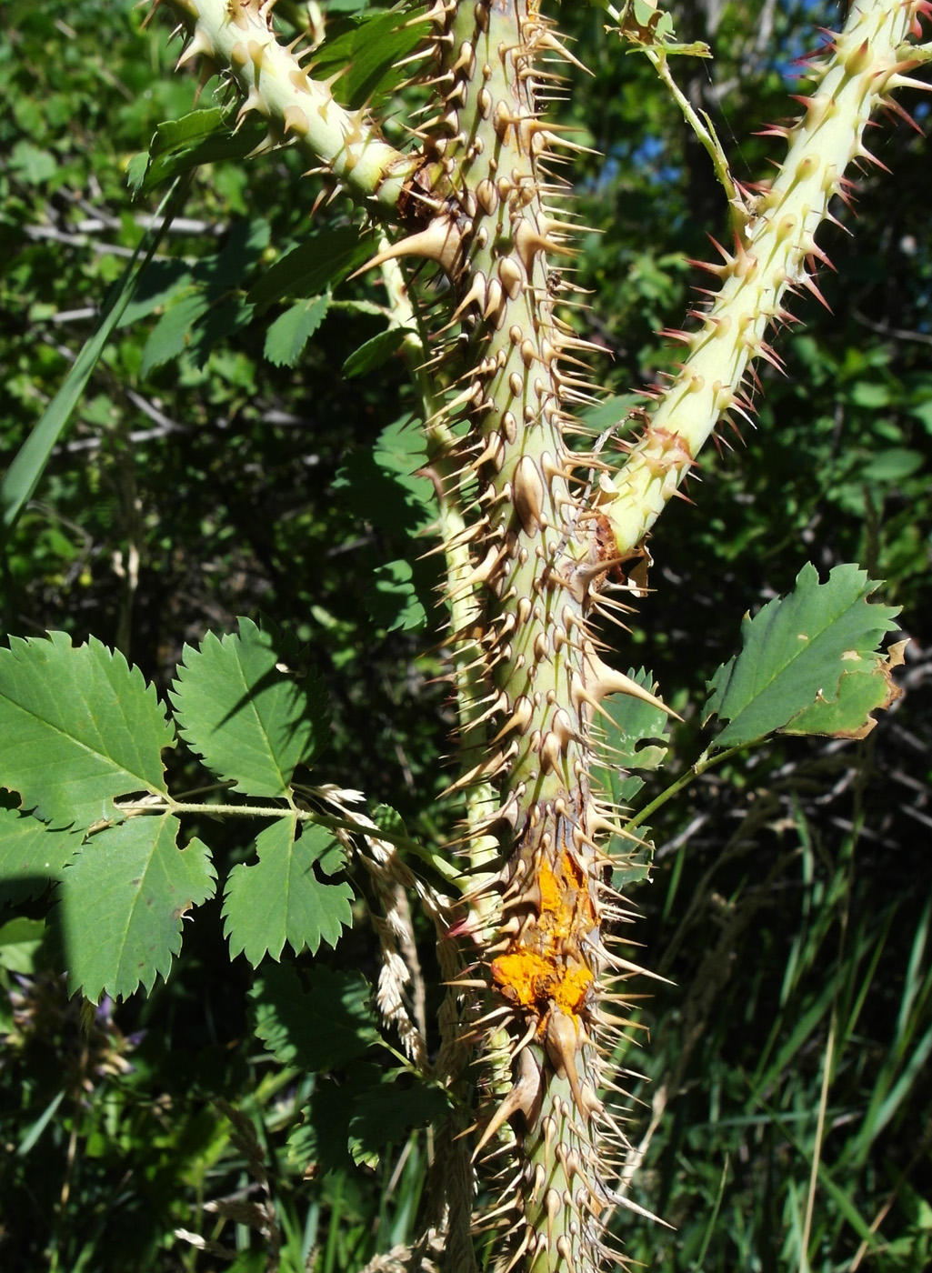
[(600, 840), (616, 826), (591, 789), (592, 731), (609, 694), (649, 695), (600, 659), (590, 633), (619, 563), (583, 504), (595, 460), (564, 440), (568, 407), (591, 391), (547, 261), (572, 255), (547, 172), (568, 143), (536, 94), (554, 78), (546, 59), (568, 55), (528, 0), (442, 4), (435, 18), (443, 106), (425, 132), (448, 193), (377, 260), (430, 258), (457, 298), (438, 360), (461, 369), (446, 412), (467, 423), (455, 480), (476, 493), (462, 587), (479, 622), (451, 644), (470, 647), (484, 676), (465, 741), (476, 763), (453, 789), (491, 785), (494, 807), (470, 834), (499, 845), (461, 925), (474, 942), (462, 988), (486, 990), (466, 1032), (489, 1066), (476, 1152), (503, 1194), (481, 1223), (508, 1235), (503, 1268), (581, 1270), (607, 1254), (606, 1144), (620, 1139), (597, 1096), (602, 990), (618, 962), (601, 934), (614, 904)]

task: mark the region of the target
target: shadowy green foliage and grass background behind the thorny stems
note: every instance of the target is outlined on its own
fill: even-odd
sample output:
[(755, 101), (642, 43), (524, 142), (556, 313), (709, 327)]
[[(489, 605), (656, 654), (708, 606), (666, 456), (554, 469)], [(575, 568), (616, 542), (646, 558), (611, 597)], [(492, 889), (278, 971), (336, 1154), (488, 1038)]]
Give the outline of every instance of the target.
[[(351, 23), (363, 6), (326, 8)], [(750, 130), (788, 113), (792, 59), (837, 17), (829, 5), (765, 6), (773, 28), (759, 47), (760, 8), (677, 6), (681, 37), (714, 47), (708, 71), (684, 64), (682, 81), (713, 113), (738, 179), (779, 157)], [(298, 18), (299, 6), (279, 11)], [(592, 312), (578, 321), (604, 345), (597, 378), (628, 395), (675, 360), (656, 332), (703, 285), (689, 258), (708, 255), (707, 232), (723, 233), (723, 207), (651, 69), (604, 38), (596, 9), (564, 5), (563, 19), (595, 80), (579, 76), (556, 109), (601, 153), (573, 174), (581, 220), (600, 232), (584, 238), (578, 281), (592, 290)], [(171, 73), (166, 28), (140, 32), (129, 3), (8, 0), (1, 20), (9, 460), (158, 201), (130, 200), (134, 155), (162, 121), (192, 108), (195, 80)], [(351, 25), (330, 29), (353, 37)], [(395, 85), (386, 92), (396, 104)], [(210, 90), (202, 104), (216, 104)], [(928, 132), (928, 107), (904, 104)], [(671, 1270), (929, 1262), (932, 164), (928, 140), (903, 121), (873, 141), (893, 176), (870, 171), (857, 219), (840, 211), (853, 238), (823, 239), (837, 270), (820, 274), (830, 312), (797, 303), (805, 325), (779, 345), (786, 377), (761, 372), (756, 428), (704, 461), (695, 505), (662, 518), (651, 542), (656, 592), (629, 636), (611, 635), (684, 715), (681, 769), (702, 750), (704, 682), (733, 653), (742, 614), (788, 591), (805, 561), (823, 577), (859, 561), (886, 579), (884, 600), (903, 607), (912, 638), (909, 694), (867, 740), (784, 740), (685, 787), (652, 820), (658, 852), (653, 882), (634, 892), (637, 939), (674, 985), (640, 1006), (649, 1041), (619, 1063), (640, 1102), (632, 1139), (647, 1141), (652, 1108), (665, 1108), (633, 1197), (676, 1231), (625, 1214), (619, 1223), (632, 1258)], [(437, 579), (435, 559), (415, 563), (433, 541), (400, 424), (413, 397), (381, 336), (381, 286), (342, 281), (362, 260), (348, 247), (350, 213), (337, 201), (312, 218), (318, 190), (288, 151), (197, 171), (4, 541), (4, 635), (95, 636), (167, 700), (186, 642), (233, 631), (241, 614), (271, 616), (326, 682), (327, 780), (391, 803), (430, 841), (447, 816), (434, 801), (448, 780), (453, 717), (442, 666), (424, 653), (437, 638)], [(302, 299), (326, 293), (326, 279), (304, 280), (297, 304), (275, 283), (276, 262), (308, 233), (327, 236), (334, 260), (344, 247), (326, 304)], [(360, 346), (368, 351), (341, 374)], [(199, 780), (183, 746), (169, 766), (177, 789)], [(652, 780), (646, 797), (658, 789)], [(250, 834), (211, 820), (225, 869), (243, 862)], [(181, 1228), (216, 1239), (234, 1268), (261, 1269), (265, 1207), (283, 1269), (312, 1260), (323, 1273), (355, 1270), (416, 1231), (430, 1139), (406, 1129), (413, 1116), (386, 1143), (357, 1095), (395, 1081), (418, 1115), (429, 1095), (397, 1087), (391, 1054), (369, 1034), (357, 1032), (358, 1051), (326, 1058), (326, 1078), (307, 1057), (276, 1054), (257, 989), (257, 978), (293, 976), (281, 994), (306, 990), (313, 1002), (346, 969), (374, 981), (362, 903), (336, 952), (281, 969), (266, 961), (257, 974), (229, 962), (220, 906), (218, 897), (200, 908), (167, 983), (97, 1011), (69, 1001), (51, 969), (47, 899), (0, 910), (4, 1268), (228, 1263), (176, 1237)], [(432, 1021), (439, 989), (427, 924), (420, 936)], [(342, 1001), (354, 1029), (374, 1032), (354, 993), (346, 987)], [(289, 1153), (303, 1108), (312, 1118), (302, 1153)], [(303, 1179), (312, 1160), (318, 1169)], [(246, 1209), (205, 1209), (229, 1198)]]

